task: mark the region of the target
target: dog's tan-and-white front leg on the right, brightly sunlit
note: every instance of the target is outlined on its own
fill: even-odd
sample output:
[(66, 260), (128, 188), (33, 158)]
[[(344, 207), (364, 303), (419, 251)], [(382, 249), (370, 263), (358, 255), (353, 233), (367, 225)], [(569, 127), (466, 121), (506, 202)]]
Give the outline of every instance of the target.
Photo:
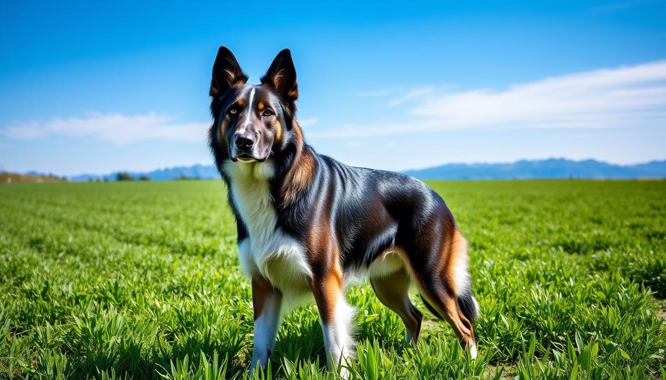
[[(322, 323), (328, 369), (332, 371), (339, 365), (347, 365), (356, 355), (356, 346), (351, 336), (354, 309), (344, 300), (339, 272), (318, 277), (313, 278), (311, 287)], [(346, 368), (340, 367), (340, 375), (347, 378), (349, 373)]]

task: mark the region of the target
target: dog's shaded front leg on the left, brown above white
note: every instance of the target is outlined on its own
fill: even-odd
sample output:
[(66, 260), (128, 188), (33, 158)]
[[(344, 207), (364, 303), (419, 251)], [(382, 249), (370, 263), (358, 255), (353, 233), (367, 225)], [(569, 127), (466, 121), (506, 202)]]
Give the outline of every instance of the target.
[(254, 307), (254, 349), (250, 375), (259, 367), (266, 369), (280, 327), (282, 293), (261, 276), (252, 278)]

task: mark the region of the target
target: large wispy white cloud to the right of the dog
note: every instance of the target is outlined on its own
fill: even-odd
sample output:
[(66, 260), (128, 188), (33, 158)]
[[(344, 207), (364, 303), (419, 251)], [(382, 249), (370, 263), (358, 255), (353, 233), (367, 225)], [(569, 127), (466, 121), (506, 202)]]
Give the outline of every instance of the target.
[[(427, 91), (426, 91), (427, 90)], [(666, 61), (513, 85), (503, 91), (417, 89), (409, 117), (321, 130), (317, 136), (377, 136), (454, 128), (634, 128), (666, 126)]]

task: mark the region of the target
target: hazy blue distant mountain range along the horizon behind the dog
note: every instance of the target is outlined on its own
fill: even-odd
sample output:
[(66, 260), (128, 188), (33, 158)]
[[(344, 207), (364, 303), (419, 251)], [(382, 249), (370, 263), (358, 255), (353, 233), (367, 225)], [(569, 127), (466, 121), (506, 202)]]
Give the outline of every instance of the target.
[[(41, 175), (37, 172), (26, 174)], [(147, 176), (153, 181), (176, 180), (179, 178), (219, 179), (213, 165), (176, 166), (153, 170), (152, 172), (130, 172), (134, 178)], [(433, 168), (408, 170), (404, 172), (422, 180), (528, 180), (537, 178), (591, 178), (591, 179), (631, 179), (666, 178), (666, 160), (652, 161), (636, 165), (615, 165), (597, 160), (573, 161), (565, 158), (547, 160), (520, 160), (504, 164), (445, 164)], [(71, 181), (115, 180), (116, 173), (81, 174), (71, 176)]]

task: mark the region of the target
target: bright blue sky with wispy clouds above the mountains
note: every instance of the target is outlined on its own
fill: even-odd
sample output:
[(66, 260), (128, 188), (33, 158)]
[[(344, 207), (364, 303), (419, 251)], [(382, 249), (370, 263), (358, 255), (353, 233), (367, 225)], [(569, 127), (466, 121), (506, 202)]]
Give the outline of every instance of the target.
[(290, 48), (306, 139), (348, 164), (666, 159), (665, 1), (11, 1), (0, 12), (5, 170), (210, 164), (219, 45), (252, 83)]

